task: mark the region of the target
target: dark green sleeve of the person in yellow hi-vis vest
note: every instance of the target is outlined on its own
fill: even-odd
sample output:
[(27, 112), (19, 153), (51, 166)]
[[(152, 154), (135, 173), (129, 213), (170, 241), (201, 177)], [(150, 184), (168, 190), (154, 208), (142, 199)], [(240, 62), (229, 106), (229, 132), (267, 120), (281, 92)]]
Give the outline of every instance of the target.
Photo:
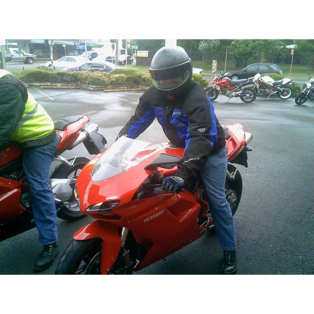
[(0, 151), (7, 145), (25, 110), (27, 90), (17, 79), (0, 79)]

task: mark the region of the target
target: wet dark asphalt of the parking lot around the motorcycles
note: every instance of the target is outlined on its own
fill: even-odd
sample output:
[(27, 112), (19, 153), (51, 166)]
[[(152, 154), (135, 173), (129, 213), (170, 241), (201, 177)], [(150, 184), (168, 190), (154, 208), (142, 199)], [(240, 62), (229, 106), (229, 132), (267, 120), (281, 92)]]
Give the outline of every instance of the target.
[[(88, 115), (100, 126), (108, 144), (114, 142), (142, 95), (34, 87), (29, 91), (54, 121)], [(226, 101), (222, 95), (214, 101), (219, 122), (239, 122), (253, 135), (248, 168), (238, 166), (243, 180), (235, 215), (238, 274), (314, 274), (314, 102), (295, 106), (294, 98), (279, 100), (277, 96), (269, 100), (258, 96), (251, 104), (238, 98)], [(156, 121), (138, 139), (167, 142)], [(73, 155), (89, 157), (83, 144), (63, 154)], [(91, 220), (84, 217), (68, 223), (58, 219), (61, 253), (73, 233)], [(34, 273), (32, 267), (41, 250), (37, 236), (32, 229), (0, 242), (0, 274)], [(221, 257), (217, 236), (207, 233), (135, 274), (219, 274)], [(53, 274), (57, 261), (41, 274)]]

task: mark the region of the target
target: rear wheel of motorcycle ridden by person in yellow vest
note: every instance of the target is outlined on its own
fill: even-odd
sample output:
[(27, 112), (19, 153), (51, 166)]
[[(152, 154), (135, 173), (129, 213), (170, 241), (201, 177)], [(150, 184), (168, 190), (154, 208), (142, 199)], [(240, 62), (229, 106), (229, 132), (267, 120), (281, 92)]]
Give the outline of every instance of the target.
[[(89, 162), (87, 158), (84, 157), (72, 157), (69, 158), (68, 161), (73, 161), (73, 167), (70, 167), (66, 164), (60, 163), (58, 164), (54, 170), (50, 174), (50, 178), (53, 179), (66, 179), (66, 178), (77, 178), (80, 170), (84, 168), (84, 166)], [(64, 202), (60, 206), (60, 210), (57, 213), (57, 217), (64, 219), (64, 220), (77, 220), (82, 218), (85, 214), (83, 214), (76, 203), (75, 196), (74, 196), (74, 189), (76, 188), (73, 186), (73, 192), (71, 198)]]

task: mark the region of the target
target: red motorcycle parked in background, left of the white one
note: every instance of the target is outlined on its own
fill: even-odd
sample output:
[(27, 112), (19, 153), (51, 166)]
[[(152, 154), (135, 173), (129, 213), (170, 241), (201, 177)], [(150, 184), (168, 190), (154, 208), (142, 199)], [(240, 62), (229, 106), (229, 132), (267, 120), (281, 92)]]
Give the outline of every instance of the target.
[[(219, 91), (216, 86), (220, 87), (220, 92), (222, 95), (229, 97), (228, 101), (232, 97), (240, 97), (242, 101), (250, 103), (256, 98), (256, 91), (252, 87), (246, 85), (252, 84), (252, 80), (249, 79), (239, 79), (232, 81), (231, 78), (224, 77), (223, 72), (216, 75), (214, 80), (209, 82), (208, 85), (212, 85), (205, 89), (206, 94), (211, 100), (215, 100), (218, 97)], [(228, 102), (227, 101), (227, 102)]]

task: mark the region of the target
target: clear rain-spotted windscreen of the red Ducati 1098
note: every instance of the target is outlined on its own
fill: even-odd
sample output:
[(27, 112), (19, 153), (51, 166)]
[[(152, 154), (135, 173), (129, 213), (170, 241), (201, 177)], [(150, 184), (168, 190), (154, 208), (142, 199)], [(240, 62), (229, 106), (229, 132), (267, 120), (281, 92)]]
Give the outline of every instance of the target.
[(98, 182), (116, 176), (138, 165), (161, 149), (163, 149), (161, 144), (122, 136), (104, 152), (95, 164), (92, 181)]

